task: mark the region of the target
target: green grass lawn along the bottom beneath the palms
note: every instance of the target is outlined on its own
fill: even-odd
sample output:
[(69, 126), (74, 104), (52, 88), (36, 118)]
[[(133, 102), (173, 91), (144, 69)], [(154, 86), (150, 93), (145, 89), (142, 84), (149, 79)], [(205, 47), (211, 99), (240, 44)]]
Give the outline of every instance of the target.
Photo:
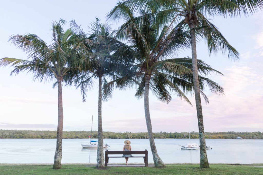
[(170, 164), (166, 168), (154, 167), (107, 167), (96, 169), (94, 165), (62, 165), (62, 169), (52, 169), (52, 165), (0, 166), (0, 174), (263, 174), (261, 165), (225, 165), (211, 164), (210, 168), (199, 168), (199, 165)]

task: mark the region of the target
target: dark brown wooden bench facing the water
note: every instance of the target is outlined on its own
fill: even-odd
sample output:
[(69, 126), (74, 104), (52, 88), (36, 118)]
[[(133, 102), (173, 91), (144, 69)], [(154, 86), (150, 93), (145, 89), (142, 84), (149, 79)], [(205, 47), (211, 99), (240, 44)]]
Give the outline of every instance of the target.
[[(122, 157), (122, 156), (108, 156), (108, 155), (114, 155), (114, 154), (131, 154), (132, 157), (129, 157), (129, 158), (133, 158), (133, 157), (143, 157), (144, 159), (144, 163), (145, 163), (145, 166), (148, 167), (148, 151), (145, 150), (145, 151), (108, 151), (106, 150), (105, 151), (105, 167), (108, 166), (108, 163), (109, 163), (109, 158), (115, 158), (115, 157), (121, 157), (121, 158), (125, 158), (125, 157)], [(138, 155), (138, 154), (144, 154), (144, 156), (134, 156), (134, 155)]]

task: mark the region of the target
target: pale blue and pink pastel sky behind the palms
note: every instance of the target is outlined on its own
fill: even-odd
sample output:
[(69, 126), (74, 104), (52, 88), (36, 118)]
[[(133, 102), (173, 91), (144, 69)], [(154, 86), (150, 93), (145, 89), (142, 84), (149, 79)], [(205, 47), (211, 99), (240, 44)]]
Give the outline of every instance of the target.
[[(45, 42), (51, 38), (52, 20), (75, 20), (88, 31), (95, 17), (105, 22), (105, 14), (117, 1), (2, 1), (0, 58), (26, 59), (26, 54), (8, 43), (13, 34), (37, 34)], [(75, 4), (78, 4), (75, 6)], [(82, 4), (82, 5), (80, 5)], [(211, 17), (212, 18), (212, 17)], [(225, 96), (207, 92), (210, 103), (203, 100), (205, 131), (263, 132), (263, 12), (249, 17), (224, 19), (213, 17), (213, 23), (229, 43), (240, 52), (240, 61), (228, 60), (218, 53), (209, 56), (203, 41), (197, 46), (199, 59), (224, 76), (211, 75), (225, 90)], [(65, 29), (68, 26), (65, 26)], [(117, 28), (118, 24), (114, 24)], [(180, 56), (191, 56), (190, 50)], [(33, 82), (32, 75), (9, 76), (12, 68), (0, 67), (0, 129), (56, 130), (57, 88), (54, 82)], [(98, 87), (89, 91), (82, 102), (80, 91), (63, 87), (64, 130), (90, 130), (97, 126)], [(115, 90), (113, 98), (102, 104), (103, 130), (114, 132), (146, 132), (144, 101), (134, 97), (135, 89)], [(153, 131), (198, 131), (194, 98), (193, 106), (173, 95), (167, 105), (150, 94), (150, 115)]]

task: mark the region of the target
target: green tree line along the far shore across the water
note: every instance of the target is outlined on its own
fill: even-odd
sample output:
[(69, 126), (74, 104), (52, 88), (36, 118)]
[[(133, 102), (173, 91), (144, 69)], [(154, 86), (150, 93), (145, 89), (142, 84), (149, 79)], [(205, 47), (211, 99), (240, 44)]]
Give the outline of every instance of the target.
[[(87, 139), (91, 131), (63, 131), (63, 139)], [(92, 131), (98, 138), (98, 131)], [(206, 139), (263, 139), (263, 132), (205, 132)], [(57, 131), (0, 130), (0, 139), (56, 139)], [(104, 139), (148, 139), (147, 132), (103, 132)], [(188, 139), (189, 132), (154, 132), (154, 139)], [(191, 132), (191, 139), (198, 139), (198, 132)]]

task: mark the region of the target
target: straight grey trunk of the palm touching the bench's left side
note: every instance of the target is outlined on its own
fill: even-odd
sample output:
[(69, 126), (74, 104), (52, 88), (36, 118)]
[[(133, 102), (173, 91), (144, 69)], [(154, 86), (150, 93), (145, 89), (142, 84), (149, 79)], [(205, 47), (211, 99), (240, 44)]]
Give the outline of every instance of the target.
[(99, 102), (98, 102), (98, 149), (97, 149), (97, 168), (104, 167), (103, 153), (103, 131), (102, 131), (102, 77), (99, 77)]

